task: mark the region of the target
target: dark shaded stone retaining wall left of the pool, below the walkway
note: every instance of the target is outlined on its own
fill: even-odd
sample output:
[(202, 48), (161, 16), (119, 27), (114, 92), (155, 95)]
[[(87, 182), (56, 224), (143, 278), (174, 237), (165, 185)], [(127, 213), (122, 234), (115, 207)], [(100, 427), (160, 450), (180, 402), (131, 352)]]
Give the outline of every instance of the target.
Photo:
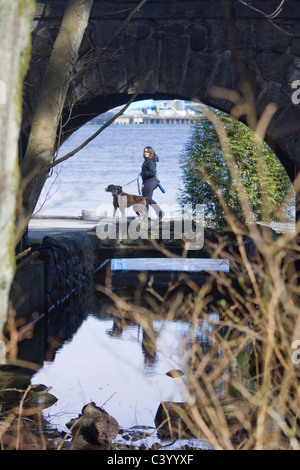
[(44, 237), (32, 245), (37, 261), (15, 276), (11, 300), (17, 317), (30, 320), (32, 314), (47, 313), (63, 304), (91, 279), (94, 255), (90, 238), (84, 233)]

